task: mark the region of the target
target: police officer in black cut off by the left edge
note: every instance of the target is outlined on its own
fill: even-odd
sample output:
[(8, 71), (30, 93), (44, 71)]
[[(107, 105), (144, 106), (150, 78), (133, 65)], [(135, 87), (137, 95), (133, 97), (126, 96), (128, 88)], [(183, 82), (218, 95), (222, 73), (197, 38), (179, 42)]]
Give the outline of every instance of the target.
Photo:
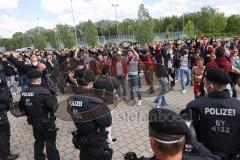
[(0, 82), (0, 160), (14, 160), (19, 155), (10, 153), (10, 124), (7, 117), (12, 96), (7, 84)]

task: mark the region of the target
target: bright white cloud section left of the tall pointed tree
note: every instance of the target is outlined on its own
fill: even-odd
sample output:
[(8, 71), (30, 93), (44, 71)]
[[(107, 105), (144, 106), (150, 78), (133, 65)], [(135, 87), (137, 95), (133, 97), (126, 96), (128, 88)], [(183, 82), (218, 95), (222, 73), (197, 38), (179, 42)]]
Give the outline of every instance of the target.
[[(136, 18), (138, 6), (142, 0), (73, 0), (73, 10), (76, 22), (93, 21), (101, 19), (115, 20), (115, 9), (113, 3), (118, 4), (118, 19)], [(54, 6), (54, 7), (52, 7)], [(72, 24), (72, 12), (70, 0), (42, 0), (42, 9), (58, 14), (59, 21)]]

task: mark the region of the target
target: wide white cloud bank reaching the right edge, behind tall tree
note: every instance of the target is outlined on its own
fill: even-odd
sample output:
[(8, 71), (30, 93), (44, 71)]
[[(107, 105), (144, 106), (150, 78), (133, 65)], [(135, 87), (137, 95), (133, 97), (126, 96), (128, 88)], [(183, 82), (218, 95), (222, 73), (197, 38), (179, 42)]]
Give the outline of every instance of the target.
[[(59, 22), (73, 24), (70, 0), (41, 0), (41, 2), (43, 10), (58, 15)], [(88, 19), (93, 21), (115, 20), (113, 3), (119, 4), (117, 7), (118, 20), (137, 18), (138, 7), (142, 2), (142, 0), (72, 0), (76, 23)], [(151, 3), (146, 0), (145, 2), (150, 15), (155, 18), (180, 16), (186, 12), (199, 11), (200, 8), (207, 5), (219, 8), (226, 15), (237, 14), (240, 10), (237, 0), (229, 0), (228, 3), (225, 0), (152, 0)]]

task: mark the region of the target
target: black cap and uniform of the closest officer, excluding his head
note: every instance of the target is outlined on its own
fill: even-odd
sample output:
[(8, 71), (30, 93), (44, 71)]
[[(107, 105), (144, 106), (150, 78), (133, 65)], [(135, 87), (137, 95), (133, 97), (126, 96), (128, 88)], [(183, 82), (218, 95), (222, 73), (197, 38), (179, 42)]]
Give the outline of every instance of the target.
[[(174, 137), (184, 135), (186, 139), (183, 160), (219, 160), (218, 156), (213, 155), (207, 148), (199, 143), (193, 136), (183, 118), (175, 112), (164, 109), (154, 108), (149, 112), (149, 130), (153, 137)], [(159, 139), (159, 138), (157, 138)], [(160, 139), (159, 139), (160, 140)], [(186, 152), (186, 146), (191, 145), (191, 152)], [(151, 158), (137, 158), (135, 153), (124, 155), (125, 160), (157, 160), (155, 156)]]

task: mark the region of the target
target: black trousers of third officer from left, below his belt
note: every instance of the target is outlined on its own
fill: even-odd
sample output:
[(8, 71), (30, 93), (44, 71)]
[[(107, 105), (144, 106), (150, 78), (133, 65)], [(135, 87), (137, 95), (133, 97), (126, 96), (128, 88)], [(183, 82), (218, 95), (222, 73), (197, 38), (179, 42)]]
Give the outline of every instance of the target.
[(107, 156), (105, 155), (106, 149), (109, 149), (106, 141), (99, 142), (91, 147), (81, 147), (80, 160), (111, 160), (112, 152)]

